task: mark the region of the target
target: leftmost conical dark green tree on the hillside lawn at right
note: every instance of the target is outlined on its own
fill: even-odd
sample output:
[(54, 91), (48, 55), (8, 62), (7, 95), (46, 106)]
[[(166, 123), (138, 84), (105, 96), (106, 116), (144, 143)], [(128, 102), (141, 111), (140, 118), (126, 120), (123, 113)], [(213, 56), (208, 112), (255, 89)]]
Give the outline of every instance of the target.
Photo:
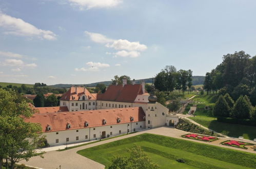
[(225, 98), (220, 95), (213, 108), (213, 115), (216, 117), (229, 117), (230, 110)]

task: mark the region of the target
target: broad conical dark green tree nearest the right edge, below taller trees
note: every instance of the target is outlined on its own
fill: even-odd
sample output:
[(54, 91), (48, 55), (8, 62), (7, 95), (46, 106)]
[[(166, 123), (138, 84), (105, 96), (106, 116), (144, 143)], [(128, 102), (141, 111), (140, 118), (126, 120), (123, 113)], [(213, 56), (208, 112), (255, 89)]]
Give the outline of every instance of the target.
[(250, 118), (251, 107), (247, 100), (241, 95), (234, 103), (232, 116), (238, 119)]

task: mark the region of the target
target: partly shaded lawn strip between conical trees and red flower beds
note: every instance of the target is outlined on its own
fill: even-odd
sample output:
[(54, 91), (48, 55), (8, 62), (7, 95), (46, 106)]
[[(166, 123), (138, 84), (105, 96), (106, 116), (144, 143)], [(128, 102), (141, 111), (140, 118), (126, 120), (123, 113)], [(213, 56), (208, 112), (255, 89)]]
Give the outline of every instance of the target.
[(256, 138), (256, 126), (223, 123), (213, 117), (189, 117), (190, 119), (206, 126), (216, 132), (222, 133), (230, 137), (243, 136), (245, 139), (253, 140)]

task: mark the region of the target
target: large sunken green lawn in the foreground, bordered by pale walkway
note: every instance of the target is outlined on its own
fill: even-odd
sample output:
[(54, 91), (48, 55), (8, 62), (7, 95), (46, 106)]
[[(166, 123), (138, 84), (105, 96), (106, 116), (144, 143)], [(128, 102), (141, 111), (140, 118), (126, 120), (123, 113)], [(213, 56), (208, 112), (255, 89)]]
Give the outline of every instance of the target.
[[(160, 168), (255, 168), (256, 155), (153, 134), (141, 134), (127, 139), (94, 146), (77, 153), (102, 164), (111, 158), (128, 155), (127, 149), (140, 145)], [(179, 163), (176, 159), (184, 159)]]

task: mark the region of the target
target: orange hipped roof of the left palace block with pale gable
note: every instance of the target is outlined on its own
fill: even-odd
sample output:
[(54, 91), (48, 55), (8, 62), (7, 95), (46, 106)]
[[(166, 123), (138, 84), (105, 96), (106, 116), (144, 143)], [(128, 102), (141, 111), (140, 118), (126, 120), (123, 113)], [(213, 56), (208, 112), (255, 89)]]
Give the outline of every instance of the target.
[(96, 98), (85, 87), (71, 87), (61, 100), (78, 100), (80, 96), (85, 94), (89, 100), (96, 100)]

